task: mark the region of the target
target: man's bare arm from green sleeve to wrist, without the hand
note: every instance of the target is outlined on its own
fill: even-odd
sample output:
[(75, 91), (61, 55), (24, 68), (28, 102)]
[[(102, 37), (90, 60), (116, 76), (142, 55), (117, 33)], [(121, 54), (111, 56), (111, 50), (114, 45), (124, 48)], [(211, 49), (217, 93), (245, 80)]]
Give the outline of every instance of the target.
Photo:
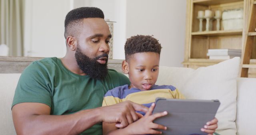
[(99, 109), (50, 115), (50, 107), (43, 103), (19, 103), (12, 108), (18, 135), (76, 135), (100, 122), (99, 115)]

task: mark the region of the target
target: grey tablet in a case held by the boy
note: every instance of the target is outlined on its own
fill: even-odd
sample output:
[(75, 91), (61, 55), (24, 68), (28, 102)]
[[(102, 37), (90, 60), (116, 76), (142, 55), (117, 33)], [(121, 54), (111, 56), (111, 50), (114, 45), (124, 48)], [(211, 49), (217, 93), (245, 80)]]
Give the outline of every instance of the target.
[(165, 99), (156, 98), (154, 113), (168, 114), (154, 120), (167, 127), (162, 135), (207, 135), (201, 131), (206, 122), (214, 119), (220, 106), (218, 100)]

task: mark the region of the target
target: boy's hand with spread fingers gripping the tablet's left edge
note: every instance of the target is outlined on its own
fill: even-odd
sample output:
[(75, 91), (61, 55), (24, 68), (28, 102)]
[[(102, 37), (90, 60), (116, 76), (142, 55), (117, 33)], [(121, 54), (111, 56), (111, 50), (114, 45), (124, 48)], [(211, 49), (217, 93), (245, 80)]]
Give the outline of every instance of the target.
[(125, 130), (127, 131), (126, 133), (130, 135), (161, 134), (162, 133), (161, 131), (157, 131), (155, 129), (166, 130), (167, 127), (153, 123), (153, 121), (156, 118), (167, 115), (167, 112), (164, 111), (162, 113), (152, 114), (154, 107), (155, 107), (155, 103), (152, 103), (152, 105), (150, 106), (150, 108), (148, 109), (148, 112), (144, 115), (144, 117), (128, 125), (128, 127), (125, 128)]

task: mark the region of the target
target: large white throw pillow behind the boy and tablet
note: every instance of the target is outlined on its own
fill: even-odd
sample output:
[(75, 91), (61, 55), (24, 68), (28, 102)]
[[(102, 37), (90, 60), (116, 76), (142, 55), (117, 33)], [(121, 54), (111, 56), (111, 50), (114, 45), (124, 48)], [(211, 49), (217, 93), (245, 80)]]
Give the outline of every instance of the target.
[(236, 134), (236, 77), (240, 58), (219, 64), (191, 69), (186, 67), (160, 67), (156, 84), (174, 85), (187, 99), (219, 99), (217, 132)]

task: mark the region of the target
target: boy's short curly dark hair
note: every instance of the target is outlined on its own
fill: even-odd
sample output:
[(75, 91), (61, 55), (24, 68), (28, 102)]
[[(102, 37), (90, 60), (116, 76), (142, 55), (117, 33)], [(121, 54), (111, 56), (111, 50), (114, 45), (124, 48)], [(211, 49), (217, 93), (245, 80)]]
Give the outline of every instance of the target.
[(132, 36), (126, 40), (124, 46), (125, 60), (129, 60), (132, 54), (140, 52), (156, 52), (160, 54), (161, 48), (161, 44), (153, 36)]

